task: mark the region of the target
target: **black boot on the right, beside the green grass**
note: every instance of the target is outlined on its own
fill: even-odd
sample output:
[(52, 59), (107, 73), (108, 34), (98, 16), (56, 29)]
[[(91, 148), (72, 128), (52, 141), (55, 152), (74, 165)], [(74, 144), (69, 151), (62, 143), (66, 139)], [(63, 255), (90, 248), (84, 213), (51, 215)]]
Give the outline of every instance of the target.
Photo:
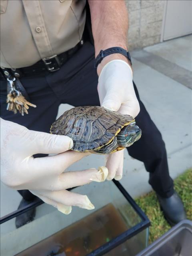
[(171, 226), (174, 226), (181, 220), (185, 220), (187, 218), (182, 200), (176, 191), (174, 191), (174, 194), (168, 198), (164, 198), (158, 194), (156, 195), (159, 200), (161, 210), (163, 211), (167, 222)]

